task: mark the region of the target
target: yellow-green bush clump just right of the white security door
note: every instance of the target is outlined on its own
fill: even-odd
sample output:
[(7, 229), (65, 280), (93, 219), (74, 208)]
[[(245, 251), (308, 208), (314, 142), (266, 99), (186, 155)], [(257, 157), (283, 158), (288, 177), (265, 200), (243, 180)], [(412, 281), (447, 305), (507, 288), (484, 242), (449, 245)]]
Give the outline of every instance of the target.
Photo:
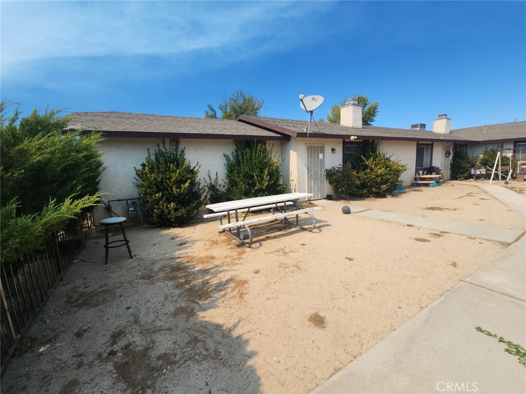
[(392, 160), (380, 150), (378, 143), (367, 141), (360, 155), (346, 164), (325, 171), (336, 198), (345, 196), (386, 197), (395, 194), (400, 175), (407, 165)]

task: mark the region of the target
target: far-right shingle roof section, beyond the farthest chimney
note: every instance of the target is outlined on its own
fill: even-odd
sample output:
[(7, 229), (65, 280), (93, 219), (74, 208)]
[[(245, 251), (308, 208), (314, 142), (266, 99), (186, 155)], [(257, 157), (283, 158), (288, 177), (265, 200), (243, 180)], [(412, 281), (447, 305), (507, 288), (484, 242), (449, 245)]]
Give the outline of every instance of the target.
[(526, 139), (526, 122), (499, 123), (451, 130), (453, 136), (462, 136), (472, 141), (502, 141)]

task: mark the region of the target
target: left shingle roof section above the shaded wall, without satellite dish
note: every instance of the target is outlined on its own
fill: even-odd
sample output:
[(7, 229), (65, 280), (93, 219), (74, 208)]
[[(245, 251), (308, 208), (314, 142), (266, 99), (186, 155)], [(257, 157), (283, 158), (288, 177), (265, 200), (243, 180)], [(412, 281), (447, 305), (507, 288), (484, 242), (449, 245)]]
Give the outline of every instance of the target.
[(73, 112), (68, 130), (97, 130), (106, 137), (288, 140), (273, 131), (228, 119), (147, 115), (129, 112)]

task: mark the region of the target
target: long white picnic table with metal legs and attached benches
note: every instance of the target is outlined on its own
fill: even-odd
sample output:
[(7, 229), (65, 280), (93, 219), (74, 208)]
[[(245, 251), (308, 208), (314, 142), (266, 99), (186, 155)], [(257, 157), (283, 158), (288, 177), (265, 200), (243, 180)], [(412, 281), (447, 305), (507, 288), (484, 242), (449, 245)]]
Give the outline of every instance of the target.
[[(316, 219), (312, 215), (312, 211), (317, 211), (322, 209), (322, 207), (315, 206), (312, 208), (299, 209), (299, 200), (307, 199), (312, 197), (312, 195), (312, 193), (286, 193), (208, 204), (206, 208), (214, 211), (214, 213), (204, 215), (203, 217), (206, 219), (208, 217), (219, 216), (219, 227), (221, 231), (226, 232), (234, 239), (240, 241), (242, 245), (250, 247), (252, 245), (252, 231), (250, 226), (255, 223), (282, 219), (286, 225), (307, 230), (305, 227), (299, 225), (299, 215), (308, 214), (312, 218), (312, 228), (310, 230), (315, 229)], [(290, 209), (288, 210), (288, 208)], [(272, 209), (272, 214), (247, 219), (250, 212), (265, 209)], [(232, 215), (234, 215), (235, 221), (232, 220), (234, 219), (231, 217)], [(290, 216), (296, 216), (296, 222), (294, 224), (288, 220)], [(224, 219), (227, 220), (227, 223), (223, 222)], [(246, 234), (248, 235), (248, 243), (244, 241), (245, 232), (241, 232), (242, 227), (245, 228)]]

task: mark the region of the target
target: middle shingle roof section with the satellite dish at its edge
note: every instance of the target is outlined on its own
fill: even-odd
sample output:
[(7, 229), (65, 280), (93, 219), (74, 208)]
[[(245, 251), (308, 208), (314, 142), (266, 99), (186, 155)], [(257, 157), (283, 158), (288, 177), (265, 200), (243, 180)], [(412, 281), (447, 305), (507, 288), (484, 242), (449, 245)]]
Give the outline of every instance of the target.
[[(292, 137), (307, 137), (304, 131), (307, 126), (306, 120), (289, 120), (266, 118), (258, 116), (240, 116), (238, 120), (253, 125), (265, 127), (269, 130), (282, 132)], [(316, 124), (315, 124), (316, 123)], [(430, 131), (395, 129), (390, 127), (342, 126), (339, 123), (311, 122), (309, 126), (309, 137), (311, 138), (343, 138), (356, 136), (357, 139), (382, 139), (382, 140), (404, 140), (404, 141), (466, 141), (463, 135), (439, 134)]]

